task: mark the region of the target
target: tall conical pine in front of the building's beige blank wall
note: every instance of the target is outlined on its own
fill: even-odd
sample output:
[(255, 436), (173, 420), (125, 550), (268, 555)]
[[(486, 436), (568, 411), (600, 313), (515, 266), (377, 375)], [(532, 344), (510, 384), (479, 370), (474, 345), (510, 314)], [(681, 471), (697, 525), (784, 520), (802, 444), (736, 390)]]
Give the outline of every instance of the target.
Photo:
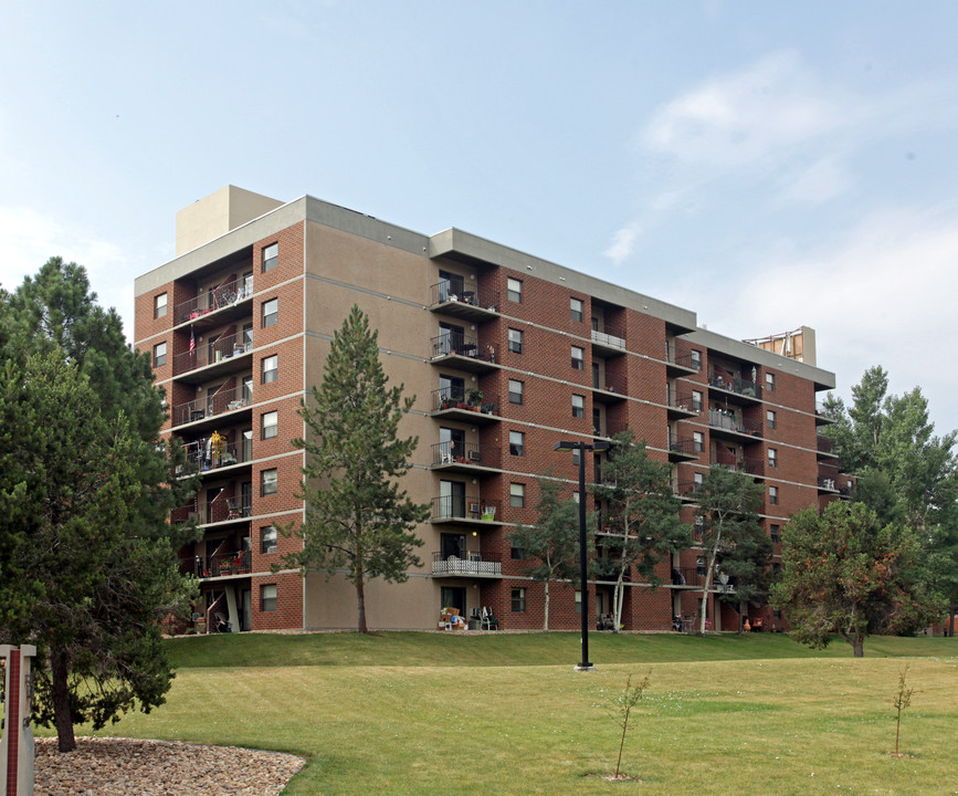
[(298, 495), (306, 516), (298, 528), (287, 530), (303, 540), (303, 549), (285, 562), (304, 575), (345, 573), (356, 588), (364, 633), (367, 580), (401, 583), (409, 568), (421, 566), (413, 551), (423, 542), (414, 530), (430, 511), (399, 489), (419, 440), (399, 439), (397, 431), (414, 398), (403, 399), (402, 385), (387, 387), (387, 381), (378, 333), (354, 305), (334, 335), (323, 384), (313, 387), (312, 405), (299, 410), (309, 437), (293, 440), (306, 451)]

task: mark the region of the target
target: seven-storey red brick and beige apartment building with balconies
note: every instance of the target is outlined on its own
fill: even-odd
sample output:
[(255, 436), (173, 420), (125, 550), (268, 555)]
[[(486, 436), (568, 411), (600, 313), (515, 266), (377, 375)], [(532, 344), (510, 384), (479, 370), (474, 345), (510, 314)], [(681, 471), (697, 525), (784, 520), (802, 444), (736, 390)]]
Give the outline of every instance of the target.
[[(547, 468), (572, 489), (578, 470), (554, 451), (560, 439), (632, 428), (672, 463), (687, 522), (712, 464), (744, 469), (766, 486), (773, 540), (790, 514), (848, 488), (817, 433), (829, 420), (815, 392), (834, 376), (815, 367), (811, 329), (801, 356), (782, 356), (457, 229), (423, 235), (308, 196), (283, 203), (232, 186), (178, 213), (176, 254), (136, 280), (135, 337), (166, 390), (165, 433), (185, 441), (202, 474), (179, 512), (203, 528), (182, 552), (201, 578), (199, 626), (221, 616), (233, 630), (356, 627), (341, 577), (271, 569), (296, 544), (275, 526), (304, 512), (303, 452), (289, 444), (304, 433), (297, 409), (352, 304), (379, 329), (390, 383), (415, 395), (400, 429), (420, 440), (404, 486), (432, 506), (419, 528), (423, 566), (403, 584), (369, 584), (370, 627), (434, 628), (441, 607), (472, 616), (489, 606), (506, 629), (540, 628), (543, 588), (508, 532), (534, 521)], [(669, 629), (696, 611), (701, 551), (676, 551), (660, 575), (654, 590), (628, 583), (627, 629)], [(611, 583), (597, 579), (589, 594), (597, 616), (611, 610)], [(554, 587), (550, 626), (577, 628), (577, 605), (571, 587)], [(735, 629), (737, 608), (710, 599), (708, 618)], [(771, 625), (766, 606), (743, 608)]]

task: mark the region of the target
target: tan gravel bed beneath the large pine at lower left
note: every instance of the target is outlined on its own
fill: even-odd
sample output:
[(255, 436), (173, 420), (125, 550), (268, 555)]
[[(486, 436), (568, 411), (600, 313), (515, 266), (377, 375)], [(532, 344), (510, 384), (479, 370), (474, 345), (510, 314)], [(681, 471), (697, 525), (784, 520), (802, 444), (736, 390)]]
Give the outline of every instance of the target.
[(34, 796), (276, 796), (305, 761), (175, 741), (77, 737), (60, 754), (36, 739)]

